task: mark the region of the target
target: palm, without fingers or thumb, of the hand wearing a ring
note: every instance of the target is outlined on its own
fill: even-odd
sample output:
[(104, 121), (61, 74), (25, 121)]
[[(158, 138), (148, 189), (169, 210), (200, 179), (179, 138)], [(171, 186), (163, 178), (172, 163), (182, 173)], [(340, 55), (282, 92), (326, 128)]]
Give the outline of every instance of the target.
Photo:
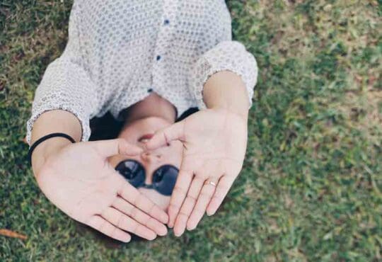
[(232, 113), (204, 110), (185, 119), (184, 125), (185, 169), (238, 174), (245, 155), (245, 120)]

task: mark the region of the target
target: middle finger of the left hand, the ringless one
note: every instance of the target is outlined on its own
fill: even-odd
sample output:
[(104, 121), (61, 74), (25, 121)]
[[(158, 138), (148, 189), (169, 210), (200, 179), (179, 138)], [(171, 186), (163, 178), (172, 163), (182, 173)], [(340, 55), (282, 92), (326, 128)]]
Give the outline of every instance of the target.
[(129, 217), (132, 217), (133, 220), (143, 224), (145, 227), (148, 227), (160, 236), (167, 234), (167, 228), (164, 224), (155, 218), (150, 217), (145, 212), (139, 210), (137, 207), (134, 207), (134, 205), (128, 203), (123, 198), (117, 197), (114, 203), (112, 203), (112, 207), (115, 207), (117, 210), (124, 212)]

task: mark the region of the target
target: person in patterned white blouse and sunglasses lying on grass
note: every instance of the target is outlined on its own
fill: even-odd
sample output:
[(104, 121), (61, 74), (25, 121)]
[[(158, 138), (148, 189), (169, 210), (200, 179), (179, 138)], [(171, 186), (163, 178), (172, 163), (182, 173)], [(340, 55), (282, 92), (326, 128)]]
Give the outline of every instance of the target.
[[(27, 123), (38, 186), (120, 241), (195, 229), (241, 171), (256, 80), (224, 1), (74, 1)], [(88, 141), (108, 112), (118, 137)]]

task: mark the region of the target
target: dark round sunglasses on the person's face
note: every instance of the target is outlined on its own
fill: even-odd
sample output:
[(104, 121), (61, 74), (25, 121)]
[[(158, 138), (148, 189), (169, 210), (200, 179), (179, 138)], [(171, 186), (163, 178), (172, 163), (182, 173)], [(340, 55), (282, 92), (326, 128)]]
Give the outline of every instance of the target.
[(162, 195), (171, 195), (175, 186), (176, 178), (178, 177), (179, 169), (172, 165), (160, 166), (153, 174), (153, 182), (151, 185), (144, 183), (146, 171), (138, 161), (127, 159), (121, 161), (115, 166), (125, 179), (135, 188), (151, 188)]

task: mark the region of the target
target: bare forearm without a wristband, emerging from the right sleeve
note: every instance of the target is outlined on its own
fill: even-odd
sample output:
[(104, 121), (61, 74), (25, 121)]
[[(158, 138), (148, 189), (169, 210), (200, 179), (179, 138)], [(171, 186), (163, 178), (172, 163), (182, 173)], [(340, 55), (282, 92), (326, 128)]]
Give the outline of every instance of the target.
[(241, 76), (225, 70), (212, 74), (203, 88), (203, 101), (207, 108), (224, 108), (248, 117), (248, 92)]

